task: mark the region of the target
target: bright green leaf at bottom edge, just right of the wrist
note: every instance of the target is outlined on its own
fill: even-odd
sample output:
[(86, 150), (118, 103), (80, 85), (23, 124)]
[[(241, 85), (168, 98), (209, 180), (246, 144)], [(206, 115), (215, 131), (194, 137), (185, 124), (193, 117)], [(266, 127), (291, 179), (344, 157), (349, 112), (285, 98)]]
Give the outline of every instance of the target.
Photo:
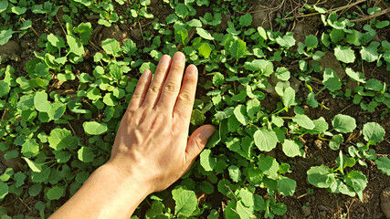
[(178, 216), (189, 217), (197, 207), (197, 199), (194, 191), (185, 190), (181, 186), (176, 186), (172, 191), (174, 199), (174, 214)]

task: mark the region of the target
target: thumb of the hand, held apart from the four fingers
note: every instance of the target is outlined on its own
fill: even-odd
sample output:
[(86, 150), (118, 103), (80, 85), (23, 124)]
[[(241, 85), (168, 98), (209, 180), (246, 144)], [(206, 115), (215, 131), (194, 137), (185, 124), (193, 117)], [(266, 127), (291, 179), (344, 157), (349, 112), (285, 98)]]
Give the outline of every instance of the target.
[(212, 125), (201, 126), (192, 133), (185, 149), (189, 161), (193, 161), (200, 151), (205, 148), (207, 140), (213, 133), (214, 127)]

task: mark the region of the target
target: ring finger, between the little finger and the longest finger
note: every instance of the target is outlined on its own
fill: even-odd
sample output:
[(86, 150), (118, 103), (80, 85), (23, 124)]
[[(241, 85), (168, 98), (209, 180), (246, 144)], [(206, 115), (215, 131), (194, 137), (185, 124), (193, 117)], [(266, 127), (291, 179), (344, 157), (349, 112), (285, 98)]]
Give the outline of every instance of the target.
[(170, 65), (171, 57), (168, 55), (163, 55), (157, 65), (151, 85), (149, 86), (145, 100), (143, 101), (144, 106), (150, 106), (152, 108), (154, 107), (161, 93), (161, 89), (163, 88), (163, 81), (166, 78)]

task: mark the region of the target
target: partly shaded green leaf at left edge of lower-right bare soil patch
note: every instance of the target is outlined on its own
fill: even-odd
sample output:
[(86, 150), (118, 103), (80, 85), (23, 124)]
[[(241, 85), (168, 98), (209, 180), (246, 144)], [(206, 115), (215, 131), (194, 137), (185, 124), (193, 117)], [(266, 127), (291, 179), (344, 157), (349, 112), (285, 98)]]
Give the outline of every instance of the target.
[(336, 176), (329, 167), (312, 166), (307, 172), (308, 182), (319, 188), (329, 188), (336, 181)]

